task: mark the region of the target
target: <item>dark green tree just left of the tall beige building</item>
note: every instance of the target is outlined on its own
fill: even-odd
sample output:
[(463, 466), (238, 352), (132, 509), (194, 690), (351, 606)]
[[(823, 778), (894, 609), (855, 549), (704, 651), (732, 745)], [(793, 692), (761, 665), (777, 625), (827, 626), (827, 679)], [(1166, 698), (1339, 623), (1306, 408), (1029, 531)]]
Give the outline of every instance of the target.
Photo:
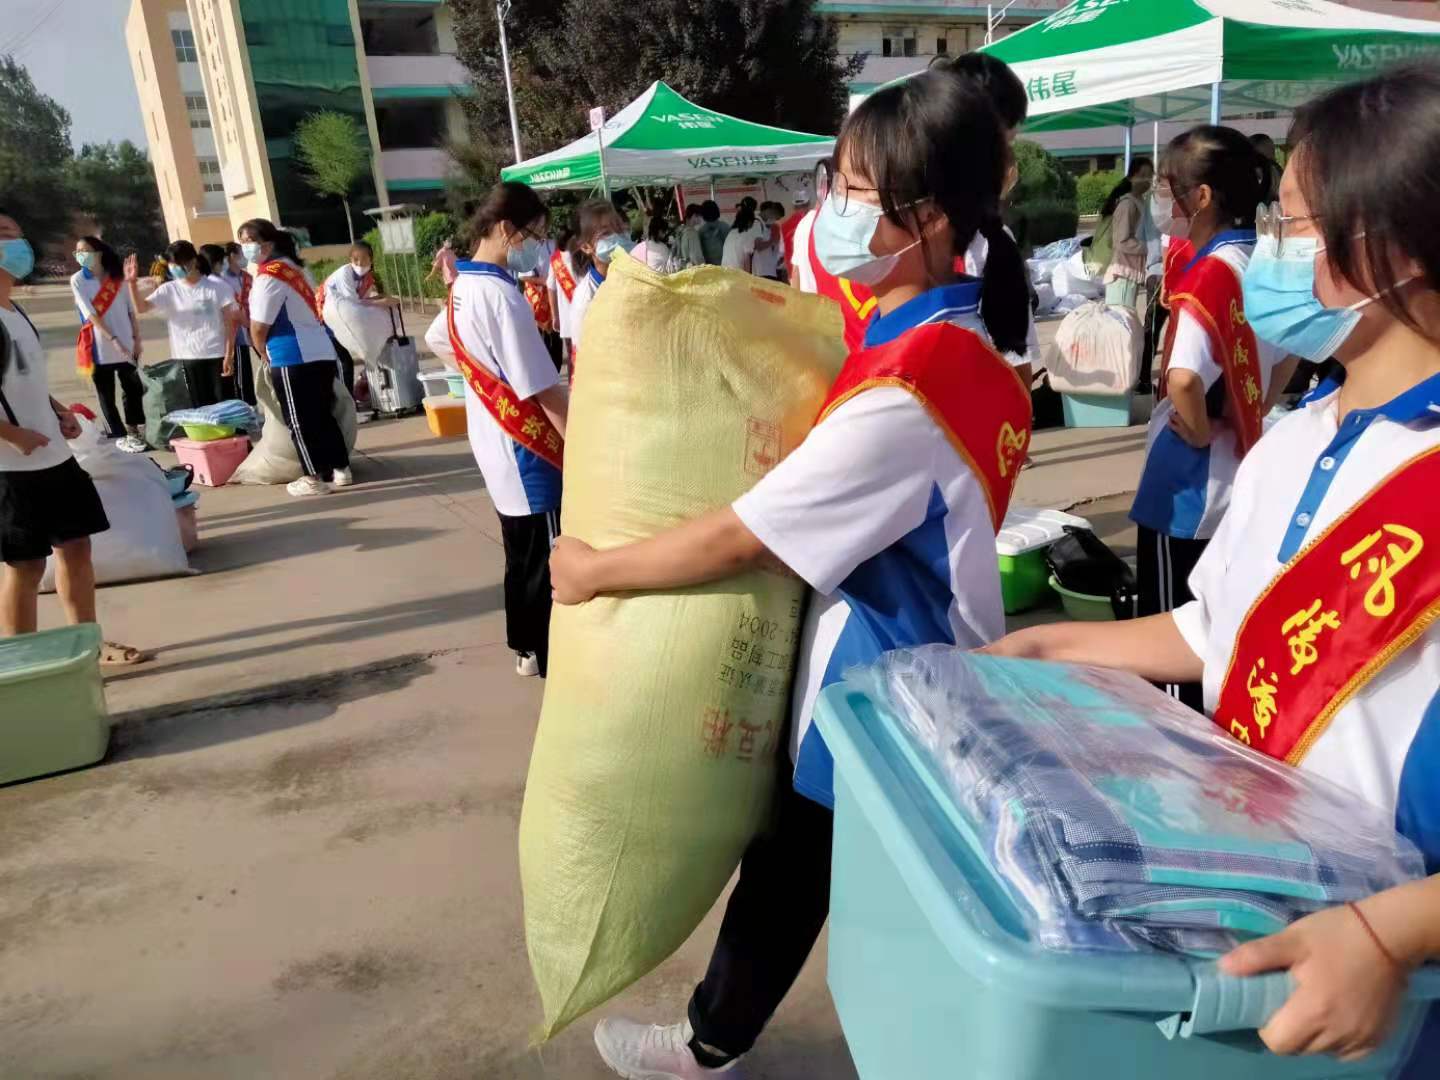
[(145, 151), (130, 140), (86, 144), (71, 166), (76, 209), (95, 219), (105, 242), (148, 258), (166, 246), (160, 189)]

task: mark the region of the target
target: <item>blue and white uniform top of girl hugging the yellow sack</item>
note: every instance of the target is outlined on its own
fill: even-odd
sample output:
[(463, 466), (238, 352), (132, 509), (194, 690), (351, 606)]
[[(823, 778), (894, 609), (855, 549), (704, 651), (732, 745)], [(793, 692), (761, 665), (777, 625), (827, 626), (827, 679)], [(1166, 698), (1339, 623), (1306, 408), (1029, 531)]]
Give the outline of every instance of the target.
[[(930, 289), (877, 317), (865, 346), (927, 323), (984, 340), (979, 282)], [(985, 488), (916, 397), (874, 387), (844, 402), (733, 505), (815, 590), (792, 696), (795, 789), (834, 805), (834, 763), (811, 724), (845, 668), (893, 648), (975, 648), (1005, 631)]]

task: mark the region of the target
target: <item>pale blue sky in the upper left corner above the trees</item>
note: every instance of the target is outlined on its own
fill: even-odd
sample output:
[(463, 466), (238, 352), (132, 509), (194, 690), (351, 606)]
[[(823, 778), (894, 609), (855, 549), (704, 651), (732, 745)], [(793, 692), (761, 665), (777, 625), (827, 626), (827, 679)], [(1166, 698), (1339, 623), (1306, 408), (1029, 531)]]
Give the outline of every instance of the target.
[(0, 0), (0, 53), (71, 111), (75, 147), (128, 138), (145, 145), (125, 50), (130, 0)]

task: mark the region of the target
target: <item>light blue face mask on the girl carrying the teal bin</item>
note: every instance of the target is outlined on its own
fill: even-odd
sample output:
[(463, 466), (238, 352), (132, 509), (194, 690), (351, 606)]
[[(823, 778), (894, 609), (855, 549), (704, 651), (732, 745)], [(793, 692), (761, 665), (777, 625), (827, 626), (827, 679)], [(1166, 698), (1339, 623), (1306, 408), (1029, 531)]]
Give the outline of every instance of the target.
[(1246, 266), (1246, 320), (1256, 337), (1303, 360), (1328, 360), (1359, 324), (1362, 300), (1348, 308), (1328, 308), (1315, 295), (1316, 236), (1287, 238), (1279, 251), (1273, 236), (1256, 242)]

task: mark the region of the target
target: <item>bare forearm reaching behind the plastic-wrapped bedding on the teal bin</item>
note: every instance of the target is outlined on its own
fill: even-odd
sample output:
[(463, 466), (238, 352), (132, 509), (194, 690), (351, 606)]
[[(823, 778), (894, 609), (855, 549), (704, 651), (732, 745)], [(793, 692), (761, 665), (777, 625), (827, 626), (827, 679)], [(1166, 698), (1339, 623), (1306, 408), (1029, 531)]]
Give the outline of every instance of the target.
[(982, 652), (1129, 671), (1152, 683), (1198, 683), (1205, 665), (1169, 612), (1123, 622), (1054, 622), (1015, 631)]

